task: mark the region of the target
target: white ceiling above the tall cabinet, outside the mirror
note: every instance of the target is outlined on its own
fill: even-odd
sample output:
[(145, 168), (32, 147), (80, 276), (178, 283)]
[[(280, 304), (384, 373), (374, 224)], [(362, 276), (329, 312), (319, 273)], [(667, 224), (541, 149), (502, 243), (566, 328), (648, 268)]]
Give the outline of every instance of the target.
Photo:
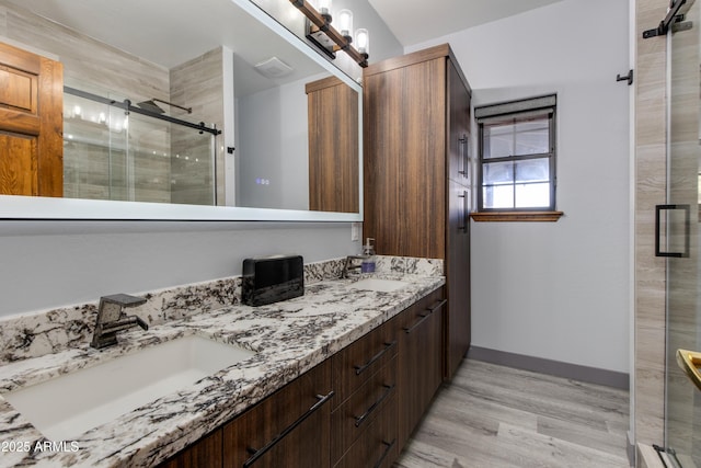
[(368, 1), (406, 47), (562, 0)]

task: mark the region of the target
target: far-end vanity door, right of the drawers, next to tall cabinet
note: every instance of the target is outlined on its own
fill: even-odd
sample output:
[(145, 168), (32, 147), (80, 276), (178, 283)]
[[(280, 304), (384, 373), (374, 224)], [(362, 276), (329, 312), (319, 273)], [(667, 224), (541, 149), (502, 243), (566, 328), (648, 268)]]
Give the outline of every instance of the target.
[(430, 404), (443, 377), (443, 313), (438, 290), (404, 312), (399, 365), (399, 446), (402, 447)]

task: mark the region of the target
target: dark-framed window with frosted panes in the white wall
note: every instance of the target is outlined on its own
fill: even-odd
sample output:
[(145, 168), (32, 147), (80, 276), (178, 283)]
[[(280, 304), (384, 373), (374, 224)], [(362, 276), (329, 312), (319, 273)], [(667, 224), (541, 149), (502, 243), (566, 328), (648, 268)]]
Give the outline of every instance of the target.
[(480, 212), (555, 209), (555, 104), (553, 94), (474, 110)]

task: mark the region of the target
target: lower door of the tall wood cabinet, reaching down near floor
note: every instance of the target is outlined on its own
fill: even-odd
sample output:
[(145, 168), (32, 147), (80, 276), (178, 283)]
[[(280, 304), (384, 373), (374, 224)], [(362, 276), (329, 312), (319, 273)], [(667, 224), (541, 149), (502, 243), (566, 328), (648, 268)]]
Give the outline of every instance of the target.
[(449, 181), (448, 187), (445, 377), (450, 379), (470, 347), (471, 193), (469, 189), (455, 181)]

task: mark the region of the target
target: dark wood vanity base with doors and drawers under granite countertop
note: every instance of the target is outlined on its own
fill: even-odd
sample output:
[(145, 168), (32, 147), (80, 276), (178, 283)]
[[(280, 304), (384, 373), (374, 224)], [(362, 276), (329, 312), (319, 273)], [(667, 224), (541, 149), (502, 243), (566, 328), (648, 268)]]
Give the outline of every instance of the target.
[(439, 288), (223, 426), (168, 468), (390, 468), (441, 383)]

